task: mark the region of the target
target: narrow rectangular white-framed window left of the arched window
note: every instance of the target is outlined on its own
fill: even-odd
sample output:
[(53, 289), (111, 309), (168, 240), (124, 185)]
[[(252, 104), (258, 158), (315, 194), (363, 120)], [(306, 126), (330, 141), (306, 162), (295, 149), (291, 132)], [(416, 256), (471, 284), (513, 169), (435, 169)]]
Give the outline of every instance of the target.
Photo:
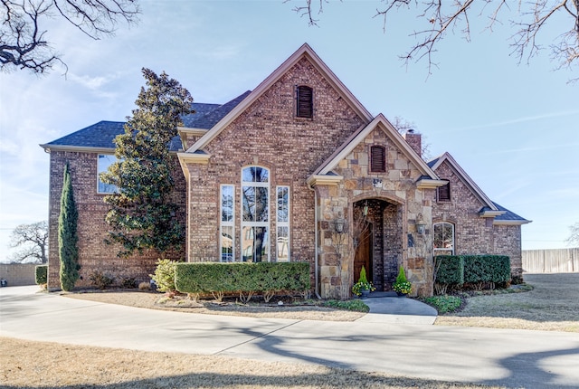
[(234, 234), (234, 202), (235, 186), (221, 185), (220, 188), (220, 223), (219, 223), (219, 247), (222, 262), (233, 262), (235, 252), (235, 234)]

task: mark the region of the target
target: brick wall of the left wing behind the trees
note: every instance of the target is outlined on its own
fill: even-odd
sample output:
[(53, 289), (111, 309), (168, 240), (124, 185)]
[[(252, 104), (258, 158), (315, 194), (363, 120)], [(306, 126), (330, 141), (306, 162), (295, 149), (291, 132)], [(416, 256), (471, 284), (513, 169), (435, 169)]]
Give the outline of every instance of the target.
[[(112, 153), (112, 150), (111, 150)], [(115, 277), (118, 281), (124, 277), (136, 280), (148, 280), (148, 274), (155, 270), (159, 254), (146, 251), (127, 259), (117, 257), (119, 246), (104, 243), (109, 226), (104, 218), (109, 206), (103, 202), (104, 194), (97, 193), (97, 156), (98, 154), (72, 151), (51, 151), (50, 164), (50, 197), (49, 197), (49, 289), (60, 289), (58, 254), (58, 218), (62, 194), (62, 176), (64, 166), (69, 163), (74, 200), (79, 212), (77, 232), (79, 236), (79, 263), (81, 279), (78, 287), (89, 287), (90, 274), (95, 270)], [(173, 199), (183, 213), (177, 217), (185, 225), (185, 179), (174, 158), (174, 179), (176, 190)], [(166, 257), (176, 260), (185, 258), (185, 249), (171, 252)]]

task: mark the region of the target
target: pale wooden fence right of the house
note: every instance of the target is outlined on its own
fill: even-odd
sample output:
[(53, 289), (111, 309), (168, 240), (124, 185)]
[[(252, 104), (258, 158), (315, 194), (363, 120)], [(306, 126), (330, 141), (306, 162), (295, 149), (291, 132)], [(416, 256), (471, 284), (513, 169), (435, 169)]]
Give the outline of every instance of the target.
[(523, 271), (528, 273), (579, 272), (579, 248), (523, 250)]

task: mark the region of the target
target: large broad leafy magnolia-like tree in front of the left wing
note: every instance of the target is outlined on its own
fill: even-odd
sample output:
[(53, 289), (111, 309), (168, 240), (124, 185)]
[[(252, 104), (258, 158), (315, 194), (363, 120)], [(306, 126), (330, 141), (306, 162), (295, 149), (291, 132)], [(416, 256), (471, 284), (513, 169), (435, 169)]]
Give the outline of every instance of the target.
[(178, 206), (171, 202), (175, 183), (174, 160), (169, 142), (177, 135), (181, 116), (193, 113), (193, 98), (178, 81), (143, 69), (147, 88), (141, 88), (128, 118), (125, 133), (115, 139), (118, 161), (100, 179), (116, 185), (118, 193), (105, 197), (110, 205), (106, 221), (112, 228), (106, 242), (122, 245), (119, 257), (154, 249), (164, 253), (179, 249), (185, 241), (178, 223)]

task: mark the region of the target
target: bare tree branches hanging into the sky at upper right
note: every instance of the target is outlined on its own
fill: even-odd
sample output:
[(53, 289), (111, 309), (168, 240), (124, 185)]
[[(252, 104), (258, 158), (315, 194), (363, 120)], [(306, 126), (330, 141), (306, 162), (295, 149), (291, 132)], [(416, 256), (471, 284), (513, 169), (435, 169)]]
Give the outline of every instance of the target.
[[(290, 1), (290, 0), (286, 0)], [(310, 25), (317, 25), (318, 19), (314, 17), (316, 8), (311, 0), (296, 0), (304, 5), (298, 5), (294, 11), (301, 16), (308, 16)], [(325, 1), (327, 3), (327, 0)], [(318, 14), (322, 11), (323, 0), (319, 0)], [(483, 17), (488, 20), (486, 29), (493, 31), (493, 26), (501, 23), (503, 11), (510, 10), (507, 0), (381, 0), (381, 7), (375, 9), (374, 17), (383, 18), (383, 30), (389, 25), (388, 16), (405, 12), (416, 16), (417, 27), (409, 33), (414, 36), (417, 42), (400, 55), (400, 59), (408, 64), (409, 62), (426, 61), (428, 73), (432, 73), (432, 66), (437, 66), (434, 62), (434, 53), (438, 43), (445, 37), (446, 33), (455, 30), (460, 31), (460, 35), (470, 41), (470, 15)], [(539, 34), (546, 30), (547, 23), (556, 26), (573, 26), (569, 30), (559, 35), (555, 42), (550, 44), (552, 59), (558, 62), (556, 69), (573, 69), (579, 65), (579, 0), (530, 0), (528, 2), (518, 1), (517, 20), (510, 20), (515, 33), (512, 35), (511, 46), (513, 53), (517, 55), (518, 62), (529, 62), (543, 47), (538, 42)], [(567, 24), (566, 21), (570, 20)], [(574, 81), (579, 78), (574, 79)]]

